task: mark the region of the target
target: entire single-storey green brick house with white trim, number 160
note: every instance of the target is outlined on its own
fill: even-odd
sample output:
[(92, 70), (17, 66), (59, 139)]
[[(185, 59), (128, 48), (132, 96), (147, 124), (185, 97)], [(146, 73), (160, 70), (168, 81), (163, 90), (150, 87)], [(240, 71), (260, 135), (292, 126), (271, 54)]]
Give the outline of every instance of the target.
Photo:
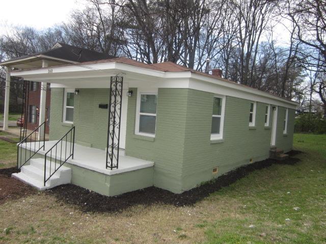
[(285, 158), (297, 103), (215, 74), (124, 57), (12, 72), (51, 87), (49, 141), (20, 143), (13, 176), (107, 196), (150, 186), (182, 193)]

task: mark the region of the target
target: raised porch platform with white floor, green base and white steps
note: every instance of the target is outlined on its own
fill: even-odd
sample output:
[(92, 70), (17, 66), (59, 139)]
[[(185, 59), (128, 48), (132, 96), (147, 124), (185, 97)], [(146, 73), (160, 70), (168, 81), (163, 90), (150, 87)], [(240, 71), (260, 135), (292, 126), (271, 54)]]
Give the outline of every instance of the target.
[[(22, 162), (24, 162), (24, 155), (29, 155), (30, 152), (33, 155), (35, 148), (39, 147), (39, 143), (41, 143), (40, 146), (43, 145), (43, 142), (39, 141), (19, 145), (22, 149)], [(45, 141), (44, 150), (42, 148), (37, 151), (32, 159), (21, 167), (21, 172), (15, 174), (15, 177), (39, 190), (72, 183), (106, 196), (115, 196), (153, 185), (154, 162), (125, 156), (124, 151), (121, 150), (119, 167), (110, 169), (106, 168), (105, 165), (105, 150), (74, 144), (73, 159), (70, 157), (65, 160), (68, 155), (67, 152), (72, 150), (71, 143), (63, 141), (62, 144), (59, 143), (56, 147), (57, 143), (56, 140)], [(47, 153), (52, 147), (51, 153)], [(51, 186), (50, 181), (43, 185), (45, 154), (45, 172), (47, 176), (49, 175), (49, 169), (54, 172), (55, 165), (57, 168), (59, 167), (58, 171), (50, 178), (54, 178), (54, 186)], [(62, 166), (60, 167), (60, 165)], [(69, 177), (64, 176), (65, 182), (61, 182), (61, 175), (63, 175), (60, 172), (61, 169), (64, 169), (66, 174), (67, 169), (69, 169), (69, 174), (71, 174)], [(24, 172), (27, 172), (28, 175), (24, 175)]]

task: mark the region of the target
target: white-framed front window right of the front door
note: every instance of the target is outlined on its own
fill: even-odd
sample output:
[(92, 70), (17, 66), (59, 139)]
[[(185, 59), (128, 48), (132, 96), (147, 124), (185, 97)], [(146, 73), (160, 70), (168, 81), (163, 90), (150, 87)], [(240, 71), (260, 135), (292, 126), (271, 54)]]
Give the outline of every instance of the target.
[(155, 136), (157, 94), (140, 93), (138, 96), (138, 114), (135, 134)]

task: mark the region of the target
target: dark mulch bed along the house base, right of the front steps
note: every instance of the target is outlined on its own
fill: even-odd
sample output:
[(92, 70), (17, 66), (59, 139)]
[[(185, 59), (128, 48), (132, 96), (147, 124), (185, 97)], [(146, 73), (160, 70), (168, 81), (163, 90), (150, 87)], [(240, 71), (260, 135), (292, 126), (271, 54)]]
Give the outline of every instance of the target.
[[(290, 154), (295, 155), (297, 153), (291, 151)], [(298, 161), (299, 159), (289, 158), (283, 161), (283, 164), (293, 164)], [(215, 180), (181, 194), (174, 194), (156, 187), (149, 187), (115, 197), (107, 197), (71, 184), (53, 188), (47, 191), (47, 193), (55, 195), (59, 200), (75, 205), (85, 212), (117, 212), (139, 204), (145, 206), (157, 203), (172, 204), (174, 206), (193, 205), (197, 201), (209, 196), (209, 194), (229, 186), (250, 172), (269, 167), (274, 163), (277, 162), (267, 159), (242, 166), (221, 175)]]

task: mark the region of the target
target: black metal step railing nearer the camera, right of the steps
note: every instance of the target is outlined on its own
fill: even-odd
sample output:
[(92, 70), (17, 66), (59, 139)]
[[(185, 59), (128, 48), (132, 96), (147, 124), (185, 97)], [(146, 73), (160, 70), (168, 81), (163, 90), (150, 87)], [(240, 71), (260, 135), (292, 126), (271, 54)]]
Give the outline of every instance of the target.
[[(69, 136), (70, 135), (70, 136)], [(69, 138), (70, 137), (70, 138)], [(64, 145), (63, 145), (64, 143)], [(59, 145), (60, 144), (60, 145)], [(46, 181), (57, 172), (57, 170), (67, 162), (68, 159), (73, 159), (74, 153), (74, 144), (75, 144), (75, 127), (72, 127), (55, 145), (53, 145), (44, 155), (44, 186)], [(58, 148), (58, 145), (60, 148)], [(69, 147), (67, 146), (69, 145)], [(64, 150), (62, 149), (64, 148)], [(69, 149), (68, 149), (69, 148)], [(60, 151), (58, 150), (60, 149)], [(68, 151), (67, 151), (68, 149)], [(54, 151), (54, 162), (52, 167), (52, 151)], [(60, 153), (60, 157), (57, 157), (57, 154)], [(68, 153), (68, 155), (67, 155)], [(49, 156), (48, 156), (49, 154)], [(64, 157), (63, 157), (64, 156)], [(48, 169), (46, 168), (46, 160), (50, 158), (50, 163)], [(57, 164), (57, 161), (59, 164)]]

